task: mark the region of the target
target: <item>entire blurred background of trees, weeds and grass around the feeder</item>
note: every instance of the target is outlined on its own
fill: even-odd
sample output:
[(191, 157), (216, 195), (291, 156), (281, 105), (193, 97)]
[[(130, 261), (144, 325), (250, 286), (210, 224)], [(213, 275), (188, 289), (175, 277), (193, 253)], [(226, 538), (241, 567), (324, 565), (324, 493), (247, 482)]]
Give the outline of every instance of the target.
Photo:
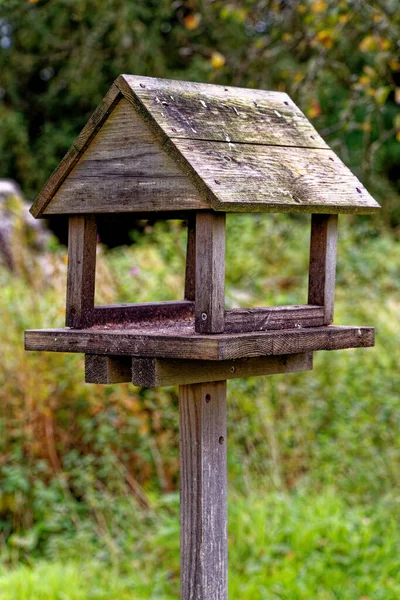
[[(336, 298), (377, 347), (229, 384), (231, 598), (400, 597), (399, 34), (397, 0), (0, 3), (0, 177), (29, 203), (134, 73), (288, 92), (382, 204), (340, 219)], [(176, 390), (23, 352), (25, 328), (62, 326), (65, 248), (1, 202), (0, 599), (176, 598)], [(304, 302), (308, 236), (305, 216), (229, 218), (228, 306)], [(98, 302), (181, 297), (179, 222), (102, 238)]]

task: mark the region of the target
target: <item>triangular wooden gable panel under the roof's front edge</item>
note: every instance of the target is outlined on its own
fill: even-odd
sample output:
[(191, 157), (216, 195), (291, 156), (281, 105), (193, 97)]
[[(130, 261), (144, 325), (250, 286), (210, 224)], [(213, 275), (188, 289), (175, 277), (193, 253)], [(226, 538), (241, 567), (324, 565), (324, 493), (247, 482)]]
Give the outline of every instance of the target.
[(123, 99), (114, 108), (46, 214), (209, 208), (142, 117)]

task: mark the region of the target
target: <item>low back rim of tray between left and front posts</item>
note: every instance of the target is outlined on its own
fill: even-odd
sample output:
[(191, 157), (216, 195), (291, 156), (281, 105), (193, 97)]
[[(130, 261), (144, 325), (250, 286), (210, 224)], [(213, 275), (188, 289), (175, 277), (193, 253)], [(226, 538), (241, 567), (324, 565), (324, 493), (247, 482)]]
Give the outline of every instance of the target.
[(113, 323), (148, 323), (157, 321), (184, 321), (194, 316), (194, 302), (186, 300), (165, 302), (142, 302), (139, 304), (115, 304), (95, 306), (94, 325)]

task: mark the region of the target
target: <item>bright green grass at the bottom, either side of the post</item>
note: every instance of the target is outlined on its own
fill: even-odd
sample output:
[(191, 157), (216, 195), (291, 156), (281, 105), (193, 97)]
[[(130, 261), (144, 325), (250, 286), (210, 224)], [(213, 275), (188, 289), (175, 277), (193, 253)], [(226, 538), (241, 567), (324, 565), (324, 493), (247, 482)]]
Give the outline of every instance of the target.
[[(333, 491), (233, 493), (232, 600), (398, 600), (400, 504), (349, 507)], [(388, 510), (390, 508), (390, 510)], [(101, 562), (101, 540), (0, 574), (0, 600), (172, 600), (179, 594), (178, 502), (132, 531), (130, 551)], [(138, 527), (134, 519), (127, 527)], [(93, 552), (91, 555), (90, 550)], [(97, 556), (96, 556), (97, 552)], [(100, 554), (99, 554), (100, 552)], [(63, 554), (65, 558), (63, 559)]]

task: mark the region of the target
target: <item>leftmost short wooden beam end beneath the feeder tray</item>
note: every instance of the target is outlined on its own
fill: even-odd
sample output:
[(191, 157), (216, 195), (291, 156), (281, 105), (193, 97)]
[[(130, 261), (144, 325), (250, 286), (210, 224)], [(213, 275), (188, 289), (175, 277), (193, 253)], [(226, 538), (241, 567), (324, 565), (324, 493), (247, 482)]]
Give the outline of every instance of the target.
[(86, 383), (125, 383), (132, 380), (132, 361), (128, 356), (85, 355)]

